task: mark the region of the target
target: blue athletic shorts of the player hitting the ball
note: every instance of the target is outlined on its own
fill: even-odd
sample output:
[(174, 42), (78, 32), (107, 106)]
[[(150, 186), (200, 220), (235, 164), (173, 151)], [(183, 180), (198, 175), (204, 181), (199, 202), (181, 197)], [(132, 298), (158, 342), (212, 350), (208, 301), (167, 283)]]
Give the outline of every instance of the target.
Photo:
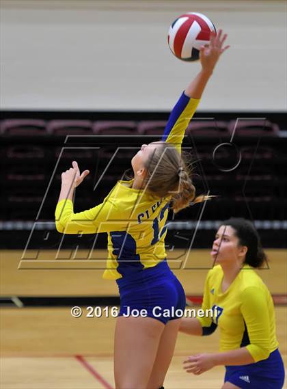
[(152, 317), (166, 324), (184, 314), (182, 285), (163, 260), (131, 276), (117, 280), (120, 291), (119, 316)]

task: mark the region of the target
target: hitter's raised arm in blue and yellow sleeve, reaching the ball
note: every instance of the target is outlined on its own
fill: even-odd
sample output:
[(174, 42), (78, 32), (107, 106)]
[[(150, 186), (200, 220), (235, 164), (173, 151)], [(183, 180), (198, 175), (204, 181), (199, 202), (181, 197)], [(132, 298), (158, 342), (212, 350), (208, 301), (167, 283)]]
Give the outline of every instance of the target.
[(225, 46), (223, 48), (223, 43), (226, 38), (226, 34), (222, 36), (222, 30), (219, 30), (217, 35), (216, 33), (210, 34), (210, 44), (202, 46), (200, 49), (202, 70), (200, 70), (195, 79), (184, 90), (169, 116), (162, 140), (163, 142), (171, 143), (176, 147), (178, 152), (181, 152), (181, 144), (185, 130), (200, 102), (206, 83), (213, 74), (220, 55), (229, 47)]

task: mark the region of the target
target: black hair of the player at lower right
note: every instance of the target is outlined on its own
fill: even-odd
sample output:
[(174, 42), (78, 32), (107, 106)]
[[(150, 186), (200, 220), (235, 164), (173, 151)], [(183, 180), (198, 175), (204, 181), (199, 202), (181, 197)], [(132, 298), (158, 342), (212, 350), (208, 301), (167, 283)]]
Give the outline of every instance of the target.
[(254, 225), (247, 219), (232, 217), (221, 223), (221, 226), (230, 226), (235, 230), (239, 245), (247, 246), (245, 262), (252, 267), (262, 267), (267, 261), (260, 241), (259, 234)]

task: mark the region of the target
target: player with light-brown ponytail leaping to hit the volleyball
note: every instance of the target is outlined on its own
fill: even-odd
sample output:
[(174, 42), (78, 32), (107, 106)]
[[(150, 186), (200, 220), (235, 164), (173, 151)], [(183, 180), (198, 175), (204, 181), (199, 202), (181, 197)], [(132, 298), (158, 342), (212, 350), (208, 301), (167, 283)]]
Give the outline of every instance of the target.
[[(85, 176), (77, 162), (61, 174), (61, 193), (55, 211), (57, 230), (65, 234), (108, 233), (107, 269), (104, 278), (116, 280), (120, 314), (115, 327), (114, 374), (118, 389), (158, 389), (172, 360), (180, 320), (154, 314), (162, 310), (184, 311), (185, 295), (169, 269), (165, 254), (168, 209), (174, 213), (189, 206), (195, 187), (180, 152), (184, 131), (213, 74), (226, 34), (213, 33), (202, 47), (202, 70), (182, 93), (174, 107), (161, 142), (143, 144), (131, 164), (134, 178), (120, 180), (102, 204), (73, 212), (73, 193)], [(131, 310), (139, 317), (128, 316)], [(157, 312), (158, 313), (158, 312)]]

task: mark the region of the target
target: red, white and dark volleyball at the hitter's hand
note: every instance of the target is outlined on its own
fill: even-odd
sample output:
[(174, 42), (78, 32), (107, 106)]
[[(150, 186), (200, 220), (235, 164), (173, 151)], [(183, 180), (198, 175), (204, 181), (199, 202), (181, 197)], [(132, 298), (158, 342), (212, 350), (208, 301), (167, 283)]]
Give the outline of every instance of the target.
[(196, 61), (200, 57), (200, 46), (209, 42), (211, 31), (216, 31), (215, 25), (205, 15), (187, 12), (169, 27), (169, 49), (183, 61)]

